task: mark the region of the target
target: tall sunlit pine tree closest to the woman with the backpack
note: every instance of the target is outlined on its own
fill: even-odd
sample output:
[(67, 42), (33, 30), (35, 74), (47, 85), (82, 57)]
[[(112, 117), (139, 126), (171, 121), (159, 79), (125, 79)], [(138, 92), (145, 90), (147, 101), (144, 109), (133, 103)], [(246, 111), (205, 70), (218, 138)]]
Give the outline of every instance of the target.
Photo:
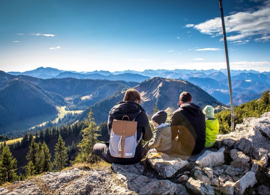
[(82, 141), (78, 144), (79, 153), (75, 158), (75, 162), (96, 162), (98, 156), (94, 153), (93, 147), (98, 142), (97, 125), (93, 118), (93, 112), (90, 110), (88, 118), (84, 119), (87, 126), (82, 130)]

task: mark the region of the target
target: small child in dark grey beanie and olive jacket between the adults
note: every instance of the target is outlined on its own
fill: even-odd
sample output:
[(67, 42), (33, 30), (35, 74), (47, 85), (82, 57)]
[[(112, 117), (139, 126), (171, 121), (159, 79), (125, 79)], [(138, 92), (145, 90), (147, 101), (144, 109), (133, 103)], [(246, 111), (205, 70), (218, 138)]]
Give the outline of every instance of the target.
[(144, 154), (162, 152), (170, 155), (172, 149), (172, 132), (170, 126), (166, 124), (167, 112), (164, 110), (158, 111), (151, 119), (155, 129), (153, 132), (154, 137), (143, 146)]

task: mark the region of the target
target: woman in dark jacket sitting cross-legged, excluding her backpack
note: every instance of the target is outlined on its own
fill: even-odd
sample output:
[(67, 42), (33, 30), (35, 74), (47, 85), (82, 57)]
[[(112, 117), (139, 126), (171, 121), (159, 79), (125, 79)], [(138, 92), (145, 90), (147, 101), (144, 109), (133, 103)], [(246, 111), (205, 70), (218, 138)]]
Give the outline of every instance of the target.
[[(153, 134), (149, 125), (149, 120), (146, 115), (146, 112), (143, 109), (143, 107), (140, 105), (141, 102), (142, 102), (142, 98), (140, 97), (140, 93), (135, 89), (128, 89), (125, 93), (123, 101), (118, 102), (110, 110), (109, 119), (108, 119), (108, 132), (109, 132), (110, 137), (112, 135), (112, 126), (113, 126), (113, 121), (115, 119), (123, 120), (123, 117), (125, 116), (129, 118), (130, 121), (137, 122), (136, 141), (138, 145), (136, 146), (134, 157), (122, 158), (122, 157), (112, 156), (110, 152), (110, 144), (111, 144), (110, 142), (106, 142), (105, 144), (101, 144), (101, 143), (95, 144), (93, 148), (94, 152), (98, 156), (100, 156), (104, 161), (109, 162), (109, 163), (130, 165), (130, 164), (135, 164), (137, 162), (140, 162), (141, 159), (143, 158), (143, 146), (142, 146), (141, 139), (143, 139), (144, 141), (149, 141), (152, 138)], [(122, 137), (125, 138), (125, 136), (122, 136)], [(129, 154), (125, 154), (125, 155), (127, 156)]]

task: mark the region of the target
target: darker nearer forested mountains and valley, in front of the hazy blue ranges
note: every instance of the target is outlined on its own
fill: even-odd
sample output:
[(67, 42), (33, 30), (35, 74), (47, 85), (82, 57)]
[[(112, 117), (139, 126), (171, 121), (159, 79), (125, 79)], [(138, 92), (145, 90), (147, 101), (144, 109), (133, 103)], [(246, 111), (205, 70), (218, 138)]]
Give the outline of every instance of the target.
[(59, 110), (56, 107), (64, 107), (66, 111), (83, 111), (81, 114), (79, 112), (59, 118), (59, 125), (82, 121), (90, 109), (94, 112), (95, 121), (100, 123), (107, 120), (110, 109), (122, 101), (128, 88), (135, 88), (144, 97), (143, 107), (148, 114), (152, 114), (155, 105), (160, 110), (172, 113), (178, 108), (179, 94), (182, 91), (190, 91), (193, 102), (202, 107), (212, 105), (220, 109), (225, 106), (202, 88), (178, 79), (154, 77), (140, 83), (70, 77), (39, 79), (0, 71), (0, 109), (3, 115), (0, 130), (2, 133), (8, 132), (10, 128), (6, 128), (7, 125), (32, 119), (33, 116), (45, 115), (46, 118), (51, 118), (47, 116), (50, 113), (52, 116), (61, 115), (57, 115)]

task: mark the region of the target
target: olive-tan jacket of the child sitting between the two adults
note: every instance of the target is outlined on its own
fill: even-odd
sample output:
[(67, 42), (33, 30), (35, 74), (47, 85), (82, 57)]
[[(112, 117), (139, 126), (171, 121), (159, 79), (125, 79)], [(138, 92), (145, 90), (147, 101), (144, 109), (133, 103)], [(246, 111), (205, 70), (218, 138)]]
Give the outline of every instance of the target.
[(172, 132), (169, 125), (155, 129), (154, 137), (149, 141), (150, 148), (164, 151), (172, 148)]

